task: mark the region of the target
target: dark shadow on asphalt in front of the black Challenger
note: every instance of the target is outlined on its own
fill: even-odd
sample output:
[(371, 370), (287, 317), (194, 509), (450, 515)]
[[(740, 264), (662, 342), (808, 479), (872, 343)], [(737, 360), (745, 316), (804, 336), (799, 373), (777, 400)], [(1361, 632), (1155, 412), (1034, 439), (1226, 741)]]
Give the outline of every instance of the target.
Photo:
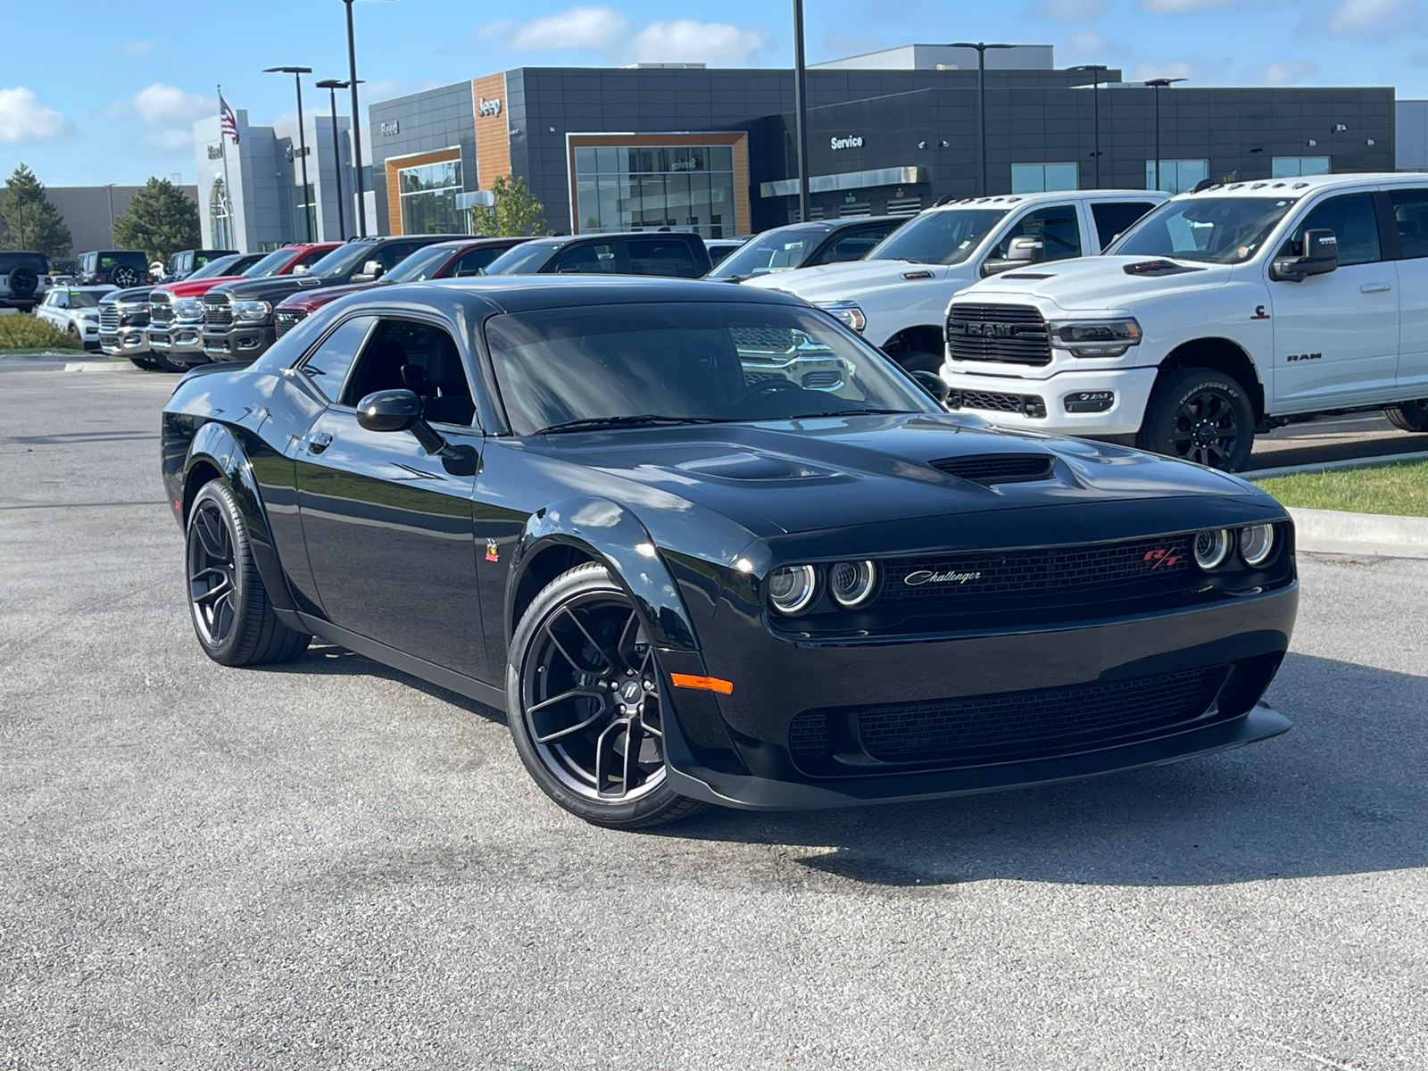
[(921, 804), (711, 810), (650, 835), (807, 845), (793, 851), (810, 878), (883, 887), (1212, 885), (1428, 864), (1428, 677), (1291, 654), (1267, 698), (1292, 731), (1187, 763)]

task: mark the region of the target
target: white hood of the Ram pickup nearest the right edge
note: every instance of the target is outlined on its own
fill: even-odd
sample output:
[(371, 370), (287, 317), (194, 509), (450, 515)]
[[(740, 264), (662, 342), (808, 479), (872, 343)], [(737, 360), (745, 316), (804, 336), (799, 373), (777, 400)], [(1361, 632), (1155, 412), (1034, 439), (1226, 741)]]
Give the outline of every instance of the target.
[[(1177, 270), (1165, 274), (1125, 270), (1154, 261), (1174, 264)], [(1232, 274), (1234, 268), (1228, 264), (1167, 261), (1161, 257), (1085, 257), (1012, 268), (960, 290), (952, 300), (1025, 301), (1040, 297), (1065, 310), (1127, 308), (1171, 291), (1222, 286)]]

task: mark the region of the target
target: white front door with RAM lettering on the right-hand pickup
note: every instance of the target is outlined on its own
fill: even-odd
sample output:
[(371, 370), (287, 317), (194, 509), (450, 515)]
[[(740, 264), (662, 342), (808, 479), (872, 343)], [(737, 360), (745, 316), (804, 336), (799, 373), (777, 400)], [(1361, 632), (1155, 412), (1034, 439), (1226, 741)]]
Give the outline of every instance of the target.
[(1312, 206), (1278, 254), (1297, 256), (1304, 231), (1321, 227), (1338, 236), (1338, 268), (1298, 283), (1267, 283), (1277, 408), (1331, 408), (1394, 393), (1398, 271), (1384, 257), (1374, 194), (1345, 193)]

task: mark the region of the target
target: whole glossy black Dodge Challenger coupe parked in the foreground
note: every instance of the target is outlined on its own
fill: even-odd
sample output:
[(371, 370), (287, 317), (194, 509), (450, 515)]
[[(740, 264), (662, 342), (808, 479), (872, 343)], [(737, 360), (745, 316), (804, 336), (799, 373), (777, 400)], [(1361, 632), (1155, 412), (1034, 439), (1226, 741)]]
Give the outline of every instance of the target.
[(334, 301), (163, 414), (193, 624), (506, 710), (633, 828), (1080, 778), (1288, 723), (1294, 530), (1224, 473), (942, 410), (831, 316), (683, 280)]

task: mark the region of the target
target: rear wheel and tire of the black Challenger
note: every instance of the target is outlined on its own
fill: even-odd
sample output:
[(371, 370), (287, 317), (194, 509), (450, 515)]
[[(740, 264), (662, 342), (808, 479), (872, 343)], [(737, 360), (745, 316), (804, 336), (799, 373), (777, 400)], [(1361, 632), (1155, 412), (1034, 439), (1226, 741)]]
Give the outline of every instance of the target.
[(286, 663), (313, 637), (277, 620), (233, 490), (210, 480), (188, 510), (184, 577), (193, 631), (220, 665)]

